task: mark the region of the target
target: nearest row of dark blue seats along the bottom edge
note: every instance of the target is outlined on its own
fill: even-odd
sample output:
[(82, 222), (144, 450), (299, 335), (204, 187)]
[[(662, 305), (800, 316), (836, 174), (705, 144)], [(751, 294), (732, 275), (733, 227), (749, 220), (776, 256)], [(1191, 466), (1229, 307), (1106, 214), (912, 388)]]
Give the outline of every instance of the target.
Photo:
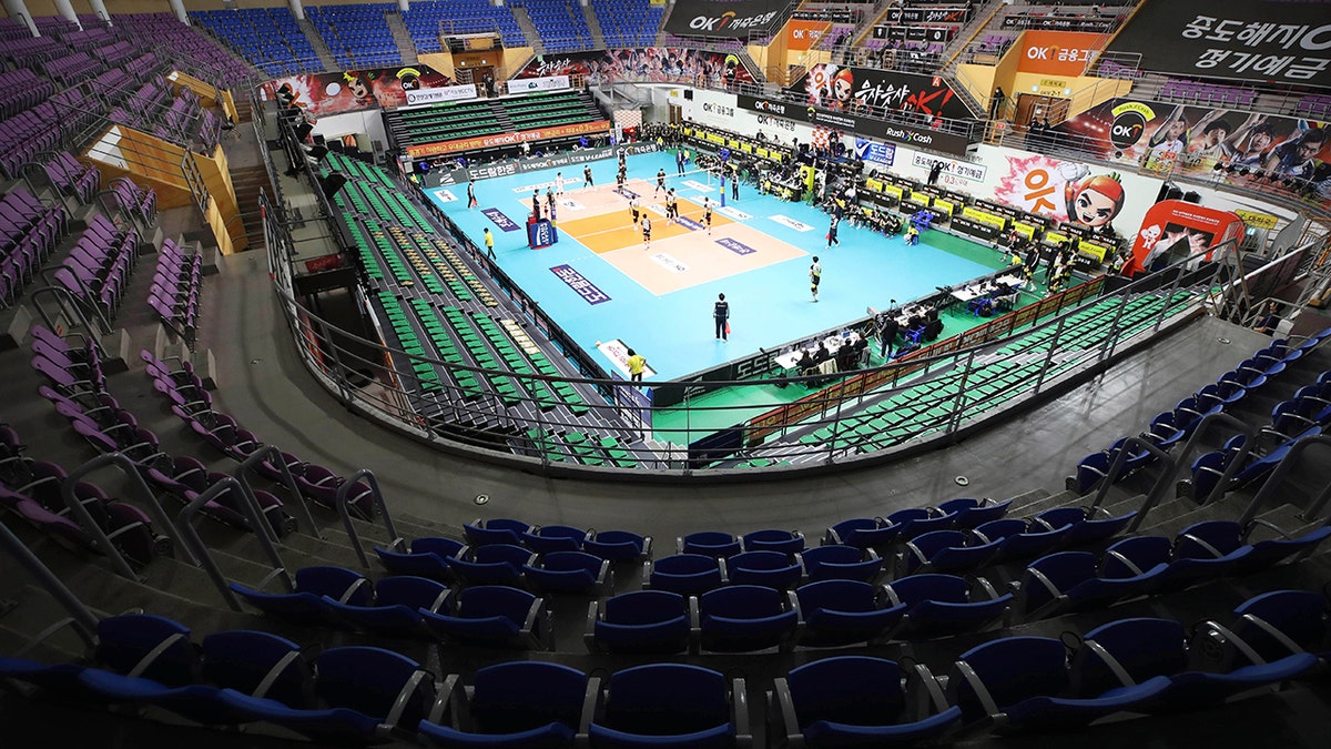
[[(952, 662), (835, 656), (777, 677), (773, 744), (884, 746), (954, 730), (1074, 729), (1123, 713), (1215, 705), (1324, 669), (1326, 601), (1275, 590), (1193, 634), (1167, 618), (1126, 618), (1075, 636), (1014, 636)], [(619, 668), (602, 686), (574, 668), (512, 661), (438, 678), (370, 646), (302, 648), (228, 630), (196, 645), (165, 617), (97, 624), (91, 664), (0, 660), (0, 674), (64, 698), (156, 705), (206, 725), (268, 721), (321, 742), (415, 738), (443, 746), (716, 746), (749, 742), (744, 680), (695, 665)], [(470, 684), (467, 684), (470, 681)], [(958, 734), (960, 736), (960, 734)]]

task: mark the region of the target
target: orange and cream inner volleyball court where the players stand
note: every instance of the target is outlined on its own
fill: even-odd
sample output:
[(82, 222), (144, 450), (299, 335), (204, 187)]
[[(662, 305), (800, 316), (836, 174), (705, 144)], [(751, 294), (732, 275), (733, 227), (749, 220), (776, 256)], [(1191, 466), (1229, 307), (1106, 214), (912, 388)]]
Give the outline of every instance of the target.
[[(720, 213), (713, 203), (712, 231), (703, 224), (703, 205), (680, 197), (680, 221), (666, 221), (660, 193), (652, 197), (652, 183), (630, 180), (640, 215), (652, 220), (651, 245), (643, 243), (640, 225), (634, 225), (628, 199), (614, 187), (586, 188), (564, 195), (559, 232), (586, 245), (648, 292), (663, 296), (675, 291), (745, 273), (756, 268), (808, 255), (757, 228)], [(752, 220), (751, 220), (752, 221)]]

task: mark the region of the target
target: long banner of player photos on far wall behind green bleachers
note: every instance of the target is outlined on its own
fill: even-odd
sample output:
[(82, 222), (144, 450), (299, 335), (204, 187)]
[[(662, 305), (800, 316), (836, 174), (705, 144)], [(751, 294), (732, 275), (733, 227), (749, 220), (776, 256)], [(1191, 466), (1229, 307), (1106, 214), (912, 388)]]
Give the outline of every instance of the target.
[[(680, 8), (676, 7), (673, 16)], [(736, 55), (681, 47), (603, 49), (532, 57), (514, 79), (582, 76), (591, 81), (631, 83), (753, 83), (753, 73)], [(508, 87), (514, 87), (514, 80)]]

